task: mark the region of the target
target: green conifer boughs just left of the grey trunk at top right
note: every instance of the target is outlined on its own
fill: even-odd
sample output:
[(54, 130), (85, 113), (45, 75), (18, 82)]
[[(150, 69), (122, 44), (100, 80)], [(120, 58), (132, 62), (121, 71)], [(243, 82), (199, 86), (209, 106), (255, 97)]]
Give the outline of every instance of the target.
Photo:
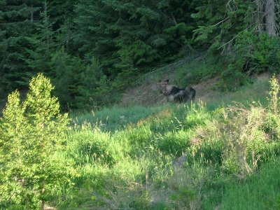
[(209, 50), (230, 50), (239, 31), (253, 28), (256, 5), (252, 1), (206, 1), (192, 17), (199, 27), (194, 39), (209, 44)]

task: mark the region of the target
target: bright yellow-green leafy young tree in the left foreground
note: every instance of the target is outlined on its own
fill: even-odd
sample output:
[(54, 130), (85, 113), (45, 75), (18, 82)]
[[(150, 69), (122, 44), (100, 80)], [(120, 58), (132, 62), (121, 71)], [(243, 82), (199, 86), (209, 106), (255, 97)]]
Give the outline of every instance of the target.
[(65, 148), (69, 123), (51, 96), (50, 80), (42, 74), (32, 78), (25, 102), (18, 91), (8, 96), (0, 123), (0, 203), (38, 209), (50, 200), (52, 189), (69, 183), (66, 162), (53, 154)]

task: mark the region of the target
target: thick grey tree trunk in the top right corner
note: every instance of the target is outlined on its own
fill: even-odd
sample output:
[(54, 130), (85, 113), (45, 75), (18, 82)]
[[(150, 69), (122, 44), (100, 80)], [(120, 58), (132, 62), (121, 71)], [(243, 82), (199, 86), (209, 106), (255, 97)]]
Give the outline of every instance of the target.
[(265, 4), (266, 31), (269, 36), (276, 36), (276, 13), (275, 1), (267, 0)]

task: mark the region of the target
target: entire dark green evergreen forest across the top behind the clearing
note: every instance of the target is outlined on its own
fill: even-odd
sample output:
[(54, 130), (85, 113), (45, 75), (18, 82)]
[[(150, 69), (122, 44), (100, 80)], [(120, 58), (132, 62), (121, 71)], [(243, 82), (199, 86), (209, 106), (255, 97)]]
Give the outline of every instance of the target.
[(276, 0), (1, 0), (0, 96), (43, 72), (63, 109), (92, 109), (196, 50), (225, 63), (230, 89), (279, 71), (279, 16)]

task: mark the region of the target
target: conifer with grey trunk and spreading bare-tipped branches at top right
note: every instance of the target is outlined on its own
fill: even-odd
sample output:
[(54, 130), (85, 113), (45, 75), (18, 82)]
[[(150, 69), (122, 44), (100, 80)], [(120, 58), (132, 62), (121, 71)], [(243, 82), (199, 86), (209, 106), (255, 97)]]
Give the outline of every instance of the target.
[(208, 43), (211, 50), (229, 52), (242, 31), (275, 36), (277, 9), (274, 0), (203, 1), (192, 15), (200, 25), (195, 41)]

